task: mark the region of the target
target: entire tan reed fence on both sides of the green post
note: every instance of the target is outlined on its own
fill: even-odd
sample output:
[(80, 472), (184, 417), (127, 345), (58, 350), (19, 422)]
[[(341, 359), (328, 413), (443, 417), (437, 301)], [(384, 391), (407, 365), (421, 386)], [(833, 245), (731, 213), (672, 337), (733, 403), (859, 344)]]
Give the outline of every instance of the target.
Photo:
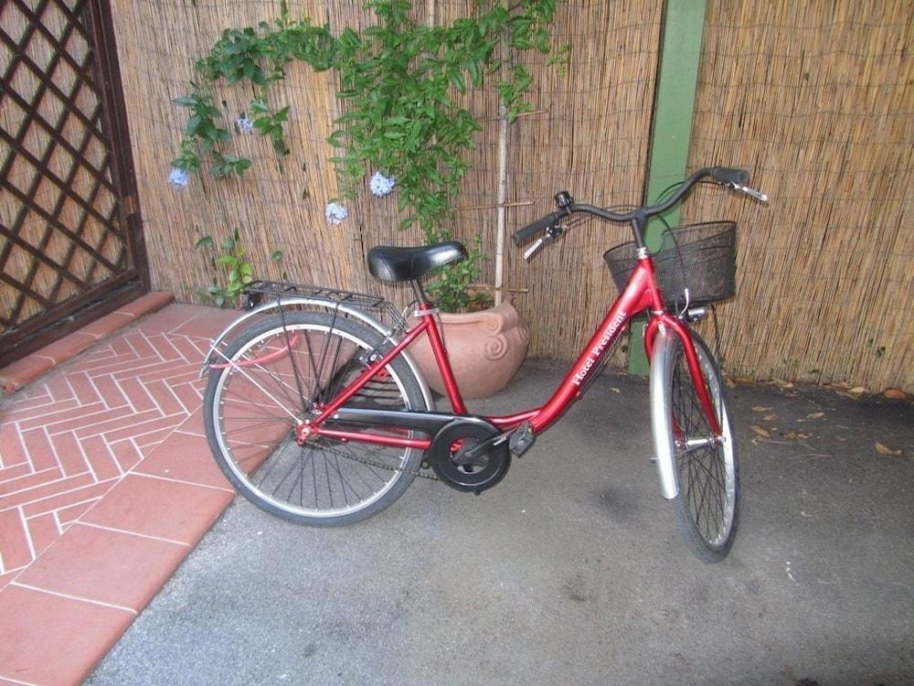
[[(474, 6), (417, 5), (417, 20), (438, 22)], [(567, 76), (535, 55), (520, 58), (535, 74), (536, 113), (508, 130), (508, 231), (548, 211), (557, 190), (598, 205), (641, 201), (661, 6), (559, 5), (554, 30), (558, 44), (571, 45)], [(324, 220), (325, 203), (338, 194), (325, 142), (342, 113), (333, 72), (293, 66), (271, 91), (273, 102), (292, 106), (292, 153), (282, 168), (269, 144), (250, 136), (239, 139), (255, 163), (243, 179), (166, 183), (184, 123), (171, 101), (188, 90), (193, 61), (223, 28), (276, 16), (279, 3), (115, 0), (113, 7), (154, 287), (202, 302), (199, 290), (213, 274), (194, 242), (238, 227), (264, 276), (380, 291), (405, 304), (405, 290), (374, 282), (363, 266), (374, 244), (420, 241), (418, 230), (396, 229), (396, 199), (366, 192), (342, 225)], [(342, 0), (289, 7), (334, 31), (372, 21), (360, 4)], [(739, 220), (738, 297), (718, 317), (732, 373), (914, 390), (912, 10), (909, 0), (709, 2), (691, 161), (753, 169), (772, 198), (758, 206), (701, 191), (685, 208), (695, 220)], [(230, 112), (250, 96), (241, 87), (223, 95)], [(491, 88), (467, 102), (484, 128), (453, 228), (464, 240), (482, 237), (490, 258), (484, 281), (492, 283), (498, 103)], [(567, 359), (590, 336), (614, 295), (600, 255), (625, 240), (625, 227), (590, 221), (533, 263), (505, 247), (505, 289), (531, 324), (532, 355)], [(276, 248), (285, 256), (270, 263)], [(614, 362), (623, 361), (617, 353)]]

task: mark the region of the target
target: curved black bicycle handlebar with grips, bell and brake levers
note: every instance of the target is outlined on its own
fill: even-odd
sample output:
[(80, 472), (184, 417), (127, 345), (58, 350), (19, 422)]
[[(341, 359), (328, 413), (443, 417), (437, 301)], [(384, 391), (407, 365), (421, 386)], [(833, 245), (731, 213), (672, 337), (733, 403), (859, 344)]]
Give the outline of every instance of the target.
[[(695, 174), (691, 177), (688, 177), (683, 182), (683, 185), (672, 195), (670, 198), (660, 202), (656, 205), (648, 207), (640, 207), (637, 209), (632, 209), (631, 212), (613, 212), (611, 209), (602, 209), (595, 207), (593, 205), (572, 203), (567, 204), (555, 212), (550, 212), (545, 217), (542, 217), (531, 224), (527, 224), (523, 229), (516, 230), (512, 235), (512, 240), (515, 241), (515, 245), (521, 245), (528, 238), (536, 234), (538, 231), (549, 230), (558, 225), (558, 222), (565, 217), (575, 213), (575, 212), (586, 212), (592, 214), (596, 217), (600, 217), (604, 220), (610, 221), (632, 221), (632, 220), (646, 220), (648, 217), (653, 217), (654, 215), (661, 214), (667, 209), (673, 207), (679, 200), (681, 200), (686, 193), (696, 183), (704, 177), (713, 178), (721, 186), (726, 186), (733, 190), (737, 190), (741, 193), (746, 193), (752, 198), (756, 198), (761, 202), (767, 202), (768, 196), (764, 193), (761, 193), (758, 190), (749, 188), (746, 184), (749, 182), (749, 172), (746, 169), (737, 169), (729, 166), (707, 166), (702, 169), (698, 169)], [(561, 195), (561, 194), (559, 194)], [(565, 194), (566, 197), (567, 194)], [(558, 200), (558, 196), (556, 197)], [(538, 247), (538, 246), (537, 246)], [(532, 252), (529, 252), (532, 254)]]

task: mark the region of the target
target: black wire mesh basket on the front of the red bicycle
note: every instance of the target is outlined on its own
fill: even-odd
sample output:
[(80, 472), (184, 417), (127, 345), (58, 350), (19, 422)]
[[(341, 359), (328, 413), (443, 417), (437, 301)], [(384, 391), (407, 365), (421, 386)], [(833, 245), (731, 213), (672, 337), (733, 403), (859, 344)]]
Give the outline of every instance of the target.
[[(620, 293), (632, 276), (637, 253), (633, 241), (603, 253)], [(736, 256), (737, 227), (732, 221), (707, 221), (664, 230), (663, 243), (653, 257), (657, 282), (667, 305), (704, 305), (733, 297)]]

